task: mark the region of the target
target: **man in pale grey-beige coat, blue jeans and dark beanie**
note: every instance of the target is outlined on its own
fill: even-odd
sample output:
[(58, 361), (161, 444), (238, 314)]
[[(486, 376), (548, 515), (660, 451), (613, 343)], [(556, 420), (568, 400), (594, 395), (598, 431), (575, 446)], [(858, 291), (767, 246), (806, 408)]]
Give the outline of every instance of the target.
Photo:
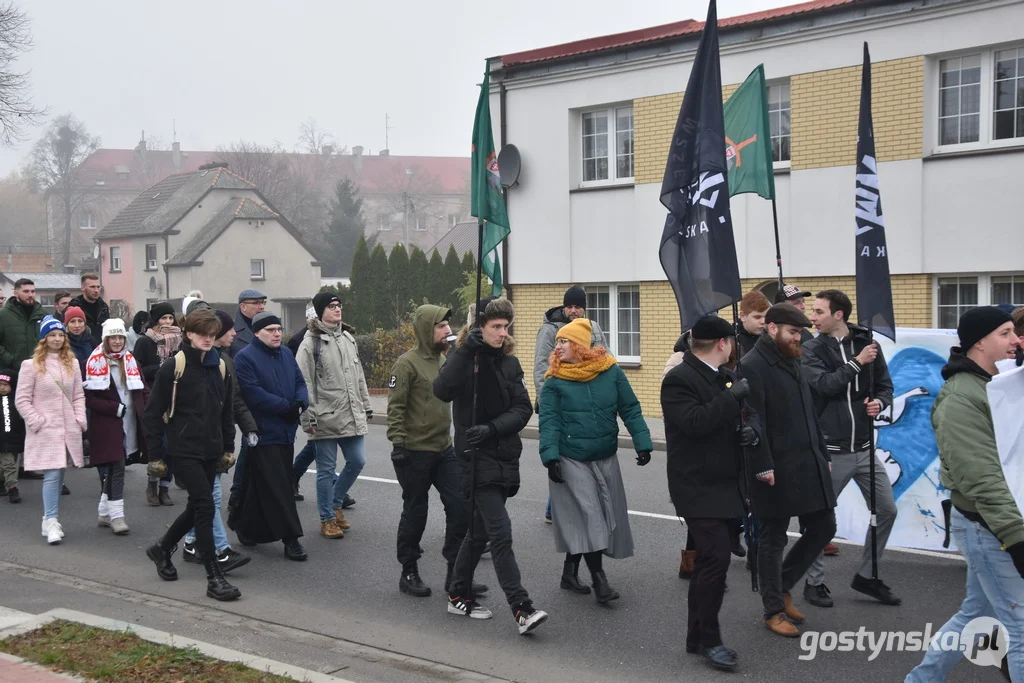
[[(302, 429), (316, 456), (321, 535), (341, 539), (350, 527), (342, 513), (345, 496), (367, 463), (364, 437), (373, 409), (354, 330), (341, 322), (341, 300), (321, 292), (313, 297), (313, 308), (316, 317), (309, 321), (296, 357), (309, 390), (309, 410), (302, 416)], [(339, 447), (345, 467), (335, 482)]]

